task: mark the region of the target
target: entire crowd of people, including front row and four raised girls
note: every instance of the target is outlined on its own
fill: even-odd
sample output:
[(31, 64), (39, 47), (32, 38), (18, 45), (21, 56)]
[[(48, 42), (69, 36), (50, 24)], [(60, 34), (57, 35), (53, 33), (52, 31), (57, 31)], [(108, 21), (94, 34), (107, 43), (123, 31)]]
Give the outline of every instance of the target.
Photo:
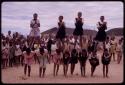
[[(108, 65), (113, 60), (119, 64), (123, 54), (123, 38), (116, 41), (115, 37), (106, 36), (107, 29), (104, 16), (100, 17), (97, 28), (99, 29), (95, 37), (83, 34), (82, 26), (84, 24), (81, 18), (82, 13), (78, 13), (76, 18), (75, 30), (73, 35), (67, 35), (66, 26), (63, 16), (59, 16), (58, 32), (52, 37), (40, 36), (40, 22), (37, 14), (33, 15), (31, 21), (32, 28), (27, 37), (8, 31), (7, 36), (1, 34), (2, 47), (2, 68), (24, 66), (24, 74), (30, 77), (32, 64), (39, 64), (39, 77), (44, 77), (47, 64), (54, 64), (53, 76), (58, 75), (60, 65), (63, 65), (64, 76), (67, 77), (67, 71), (70, 65), (71, 75), (74, 73), (75, 65), (80, 63), (81, 76), (86, 76), (86, 61), (89, 60), (91, 65), (91, 76), (98, 65), (100, 65), (97, 51), (99, 43), (102, 42), (101, 62), (103, 64), (103, 77), (108, 77)], [(34, 29), (35, 28), (35, 29)], [(37, 28), (37, 29), (36, 29)]]

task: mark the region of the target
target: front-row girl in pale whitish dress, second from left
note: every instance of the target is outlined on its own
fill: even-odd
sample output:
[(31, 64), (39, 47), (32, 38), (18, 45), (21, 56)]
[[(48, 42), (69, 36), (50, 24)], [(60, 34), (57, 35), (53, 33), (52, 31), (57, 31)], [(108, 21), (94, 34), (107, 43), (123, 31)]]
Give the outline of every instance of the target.
[(40, 64), (40, 67), (39, 67), (39, 77), (41, 77), (41, 73), (42, 72), (43, 72), (42, 77), (44, 77), (45, 71), (46, 71), (46, 64), (48, 62), (47, 52), (44, 51), (44, 48), (40, 48), (39, 52), (36, 53), (36, 54), (38, 56), (39, 64)]

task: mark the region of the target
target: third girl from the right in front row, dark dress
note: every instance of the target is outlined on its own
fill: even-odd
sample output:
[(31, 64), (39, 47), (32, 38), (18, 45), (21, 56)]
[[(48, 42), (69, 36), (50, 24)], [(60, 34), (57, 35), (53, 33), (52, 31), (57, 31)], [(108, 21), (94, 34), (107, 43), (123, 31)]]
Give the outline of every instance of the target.
[(87, 60), (87, 51), (83, 49), (82, 52), (79, 52), (79, 62), (80, 62), (81, 76), (84, 77), (85, 77), (86, 60)]

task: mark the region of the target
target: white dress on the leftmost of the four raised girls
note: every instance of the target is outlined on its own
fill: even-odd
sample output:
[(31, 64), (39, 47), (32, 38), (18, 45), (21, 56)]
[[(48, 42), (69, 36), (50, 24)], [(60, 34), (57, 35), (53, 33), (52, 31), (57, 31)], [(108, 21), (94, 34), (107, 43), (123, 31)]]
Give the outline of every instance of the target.
[(31, 32), (30, 32), (30, 36), (32, 37), (38, 37), (40, 36), (40, 29), (39, 29), (39, 20), (37, 19), (36, 21), (34, 19), (31, 20), (31, 25), (33, 25), (33, 27), (31, 28)]

